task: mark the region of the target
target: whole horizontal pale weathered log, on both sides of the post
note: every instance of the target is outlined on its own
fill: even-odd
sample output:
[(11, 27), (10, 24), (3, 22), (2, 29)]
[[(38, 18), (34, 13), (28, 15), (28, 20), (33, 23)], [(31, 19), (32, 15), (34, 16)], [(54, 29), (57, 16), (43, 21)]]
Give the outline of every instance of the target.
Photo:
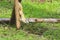
[[(10, 18), (0, 18), (0, 22), (9, 22)], [(27, 22), (51, 22), (51, 23), (60, 23), (60, 19), (55, 18), (26, 18)]]

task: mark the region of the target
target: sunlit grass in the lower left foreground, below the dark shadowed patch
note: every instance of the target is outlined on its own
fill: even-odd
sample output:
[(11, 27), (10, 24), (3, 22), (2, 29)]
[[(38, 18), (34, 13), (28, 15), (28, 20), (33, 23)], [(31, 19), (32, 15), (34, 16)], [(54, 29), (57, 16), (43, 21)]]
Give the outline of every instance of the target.
[(9, 25), (7, 28), (0, 24), (0, 40), (46, 40), (43, 36), (28, 34), (24, 30), (16, 30), (16, 28), (11, 28)]

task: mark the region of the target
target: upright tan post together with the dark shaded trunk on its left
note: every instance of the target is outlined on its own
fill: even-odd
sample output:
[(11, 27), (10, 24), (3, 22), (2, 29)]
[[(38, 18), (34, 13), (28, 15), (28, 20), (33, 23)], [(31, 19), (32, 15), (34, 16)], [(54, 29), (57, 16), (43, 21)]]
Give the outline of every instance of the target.
[(20, 16), (19, 16), (19, 6), (18, 2), (21, 2), (21, 0), (14, 0), (14, 7), (13, 7), (13, 12), (11, 16), (11, 24), (16, 24), (17, 29), (20, 28)]

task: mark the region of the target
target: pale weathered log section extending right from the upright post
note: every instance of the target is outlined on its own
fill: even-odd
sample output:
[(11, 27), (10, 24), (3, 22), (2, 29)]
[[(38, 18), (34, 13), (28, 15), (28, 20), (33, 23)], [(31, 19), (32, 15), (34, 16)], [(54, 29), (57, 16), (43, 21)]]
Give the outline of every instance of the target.
[(60, 19), (54, 19), (54, 18), (28, 18), (29, 22), (60, 22)]

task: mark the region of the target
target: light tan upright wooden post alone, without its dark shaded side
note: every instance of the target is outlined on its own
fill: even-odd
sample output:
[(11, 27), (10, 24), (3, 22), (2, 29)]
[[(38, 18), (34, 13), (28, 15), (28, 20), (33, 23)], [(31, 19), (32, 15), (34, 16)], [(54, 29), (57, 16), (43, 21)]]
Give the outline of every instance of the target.
[(17, 29), (20, 28), (20, 15), (19, 15), (19, 6), (18, 6), (18, 0), (14, 0), (14, 5), (15, 5), (15, 16), (16, 16), (16, 27)]

